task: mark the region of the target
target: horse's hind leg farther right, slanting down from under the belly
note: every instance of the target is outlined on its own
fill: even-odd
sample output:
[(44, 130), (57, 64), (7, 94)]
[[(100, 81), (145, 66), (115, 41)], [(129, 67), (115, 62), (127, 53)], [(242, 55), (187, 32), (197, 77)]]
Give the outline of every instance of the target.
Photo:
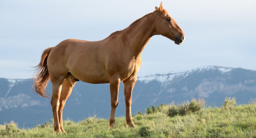
[(70, 96), (75, 83), (76, 83), (76, 81), (72, 77), (69, 77), (68, 79), (65, 79), (62, 84), (58, 116), (59, 116), (60, 129), (64, 133), (65, 133), (65, 131), (63, 129), (62, 112), (63, 112), (63, 108), (65, 106), (65, 103), (66, 103), (68, 97)]

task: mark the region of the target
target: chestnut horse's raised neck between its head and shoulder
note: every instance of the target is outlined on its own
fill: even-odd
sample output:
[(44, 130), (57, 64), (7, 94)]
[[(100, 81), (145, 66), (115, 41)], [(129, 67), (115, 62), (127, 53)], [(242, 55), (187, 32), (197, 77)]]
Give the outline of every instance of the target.
[(138, 58), (150, 38), (154, 35), (154, 17), (143, 17), (135, 25), (130, 25), (124, 32), (126, 45), (131, 51), (131, 56)]

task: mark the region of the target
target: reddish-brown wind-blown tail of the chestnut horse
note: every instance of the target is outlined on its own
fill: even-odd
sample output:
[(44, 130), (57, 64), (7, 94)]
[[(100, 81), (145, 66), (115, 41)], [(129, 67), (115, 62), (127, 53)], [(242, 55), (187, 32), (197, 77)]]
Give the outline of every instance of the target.
[[(49, 97), (50, 94), (45, 91), (45, 88), (50, 79), (50, 75), (47, 67), (47, 58), (52, 49), (53, 47), (49, 47), (45, 49), (43, 51), (40, 63), (37, 66), (35, 66), (36, 68), (35, 70), (37, 70), (37, 72), (36, 72), (36, 76), (34, 77), (35, 83), (33, 85), (33, 87), (35, 87), (35, 91), (37, 94), (47, 98), (50, 98)], [(45, 94), (48, 96), (46, 96)]]

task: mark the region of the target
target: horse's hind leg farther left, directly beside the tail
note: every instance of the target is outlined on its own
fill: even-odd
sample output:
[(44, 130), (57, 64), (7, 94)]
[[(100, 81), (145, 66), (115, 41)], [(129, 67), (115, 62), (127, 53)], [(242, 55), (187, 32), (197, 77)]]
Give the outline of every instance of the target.
[(66, 75), (59, 75), (59, 76), (50, 75), (50, 77), (53, 85), (53, 97), (52, 97), (51, 104), (52, 104), (53, 119), (54, 119), (54, 132), (58, 133), (58, 132), (62, 132), (60, 129), (58, 110), (60, 105), (61, 87)]

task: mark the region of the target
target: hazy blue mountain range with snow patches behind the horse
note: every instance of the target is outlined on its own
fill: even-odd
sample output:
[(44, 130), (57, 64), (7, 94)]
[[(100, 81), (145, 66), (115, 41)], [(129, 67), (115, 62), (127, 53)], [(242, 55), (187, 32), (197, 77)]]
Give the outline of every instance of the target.
[[(0, 78), (0, 124), (14, 120), (20, 127), (33, 127), (52, 118), (50, 98), (32, 91), (32, 79)], [(46, 91), (51, 92), (51, 82)], [(116, 116), (125, 115), (124, 85), (120, 84)], [(238, 104), (256, 97), (256, 71), (242, 68), (204, 66), (138, 77), (132, 96), (132, 113), (154, 105), (181, 103), (201, 97), (206, 105), (221, 106), (225, 97)], [(97, 114), (110, 114), (109, 84), (78, 81), (63, 110), (63, 118), (74, 121)]]

